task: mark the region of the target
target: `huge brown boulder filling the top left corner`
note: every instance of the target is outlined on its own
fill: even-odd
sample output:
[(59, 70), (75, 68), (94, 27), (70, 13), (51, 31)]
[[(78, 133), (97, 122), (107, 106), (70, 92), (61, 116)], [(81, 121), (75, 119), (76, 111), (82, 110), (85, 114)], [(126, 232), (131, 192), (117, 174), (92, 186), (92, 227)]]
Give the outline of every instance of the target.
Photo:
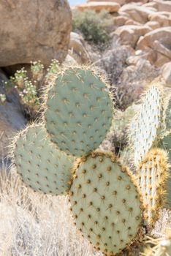
[(0, 67), (66, 57), (71, 11), (66, 0), (0, 1)]

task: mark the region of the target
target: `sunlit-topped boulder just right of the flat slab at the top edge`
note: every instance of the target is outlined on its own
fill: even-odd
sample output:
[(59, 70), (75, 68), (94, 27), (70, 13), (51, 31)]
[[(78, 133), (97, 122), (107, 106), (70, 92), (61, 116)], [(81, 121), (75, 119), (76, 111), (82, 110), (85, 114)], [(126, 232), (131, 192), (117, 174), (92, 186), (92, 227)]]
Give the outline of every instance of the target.
[(127, 17), (131, 18), (134, 21), (137, 21), (138, 23), (144, 24), (148, 22), (148, 16), (151, 15), (153, 12), (156, 12), (156, 9), (153, 7), (144, 7), (143, 5), (140, 6), (139, 3), (134, 3), (123, 5), (118, 13), (120, 15), (126, 13)]

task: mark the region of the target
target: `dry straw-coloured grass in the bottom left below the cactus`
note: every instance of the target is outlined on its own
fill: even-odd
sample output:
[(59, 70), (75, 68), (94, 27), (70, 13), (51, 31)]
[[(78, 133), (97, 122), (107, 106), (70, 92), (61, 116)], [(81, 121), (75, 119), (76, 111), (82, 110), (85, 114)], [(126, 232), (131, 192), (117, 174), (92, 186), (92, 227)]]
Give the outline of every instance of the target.
[(101, 256), (73, 224), (67, 197), (40, 195), (0, 176), (0, 255)]

